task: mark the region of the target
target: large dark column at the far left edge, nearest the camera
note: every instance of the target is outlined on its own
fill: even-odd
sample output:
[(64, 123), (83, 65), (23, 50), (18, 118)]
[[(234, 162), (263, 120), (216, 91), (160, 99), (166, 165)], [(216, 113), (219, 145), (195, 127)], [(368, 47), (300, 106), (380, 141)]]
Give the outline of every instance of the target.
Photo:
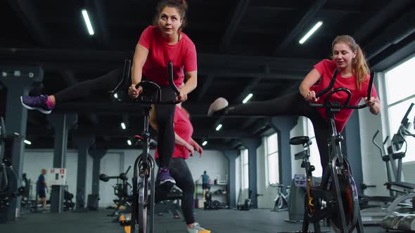
[[(20, 102), (21, 95), (27, 95), (31, 85), (35, 81), (43, 79), (43, 69), (40, 67), (0, 67), (0, 81), (7, 88), (6, 97), (6, 135), (18, 133), (23, 137), (26, 135), (27, 109)], [(4, 154), (5, 157), (11, 158), (13, 169), (17, 174), (11, 177), (11, 189), (17, 192), (18, 186), (22, 182), (23, 173), (23, 152), (25, 144), (24, 138), (14, 138), (11, 142), (11, 154)], [(2, 148), (6, 149), (6, 148)], [(6, 220), (15, 220), (20, 210), (20, 199), (15, 198), (11, 201), (6, 214)]]

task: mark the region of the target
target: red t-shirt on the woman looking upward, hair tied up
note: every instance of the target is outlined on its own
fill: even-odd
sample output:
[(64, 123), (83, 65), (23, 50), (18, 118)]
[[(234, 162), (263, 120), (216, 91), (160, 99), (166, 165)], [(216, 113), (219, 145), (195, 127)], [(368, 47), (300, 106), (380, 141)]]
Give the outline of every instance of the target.
[(173, 79), (176, 86), (184, 80), (184, 70), (192, 72), (198, 69), (196, 46), (186, 34), (180, 32), (180, 41), (168, 45), (157, 26), (148, 26), (141, 33), (139, 44), (148, 49), (148, 57), (143, 66), (143, 75), (158, 85), (169, 85), (167, 62), (173, 62)]

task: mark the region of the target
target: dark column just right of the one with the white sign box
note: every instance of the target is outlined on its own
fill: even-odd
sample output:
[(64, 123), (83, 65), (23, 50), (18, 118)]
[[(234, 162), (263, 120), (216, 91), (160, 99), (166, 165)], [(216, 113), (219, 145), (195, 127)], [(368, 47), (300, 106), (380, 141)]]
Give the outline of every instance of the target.
[(88, 149), (95, 143), (95, 135), (79, 135), (74, 133), (73, 142), (78, 148), (76, 208), (84, 208), (87, 200), (87, 156)]

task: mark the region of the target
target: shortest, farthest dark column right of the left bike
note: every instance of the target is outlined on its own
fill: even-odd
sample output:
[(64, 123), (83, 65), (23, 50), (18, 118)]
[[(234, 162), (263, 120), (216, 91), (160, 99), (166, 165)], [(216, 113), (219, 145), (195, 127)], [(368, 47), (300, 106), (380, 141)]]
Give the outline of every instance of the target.
[(236, 161), (238, 150), (224, 150), (224, 156), (228, 159), (228, 204), (231, 208), (236, 208)]

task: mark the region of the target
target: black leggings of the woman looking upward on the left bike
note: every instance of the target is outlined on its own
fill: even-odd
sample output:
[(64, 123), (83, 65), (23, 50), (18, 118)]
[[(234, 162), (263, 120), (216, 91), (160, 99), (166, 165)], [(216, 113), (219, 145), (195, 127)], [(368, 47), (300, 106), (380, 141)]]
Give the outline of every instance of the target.
[[(88, 96), (102, 95), (104, 92), (112, 91), (122, 80), (123, 69), (114, 69), (96, 79), (79, 82), (75, 85), (54, 94), (56, 102), (68, 102), (78, 100)], [(127, 90), (129, 86), (124, 84), (123, 88)], [(162, 101), (174, 101), (176, 94), (170, 86), (161, 86)], [(160, 156), (160, 167), (169, 168), (170, 159), (174, 151), (174, 105), (156, 105), (155, 116), (158, 124), (158, 153)]]

